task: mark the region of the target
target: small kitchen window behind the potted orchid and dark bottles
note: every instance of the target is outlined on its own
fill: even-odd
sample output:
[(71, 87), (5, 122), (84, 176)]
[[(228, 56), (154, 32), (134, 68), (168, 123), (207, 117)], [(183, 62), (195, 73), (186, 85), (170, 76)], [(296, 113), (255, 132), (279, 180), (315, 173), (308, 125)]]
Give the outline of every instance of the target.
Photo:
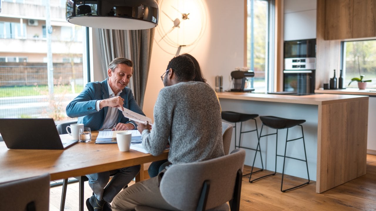
[(348, 84), (351, 78), (359, 78), (367, 82), (367, 89), (376, 89), (376, 40), (346, 41), (342, 43), (342, 69), (344, 87), (358, 88), (356, 81)]

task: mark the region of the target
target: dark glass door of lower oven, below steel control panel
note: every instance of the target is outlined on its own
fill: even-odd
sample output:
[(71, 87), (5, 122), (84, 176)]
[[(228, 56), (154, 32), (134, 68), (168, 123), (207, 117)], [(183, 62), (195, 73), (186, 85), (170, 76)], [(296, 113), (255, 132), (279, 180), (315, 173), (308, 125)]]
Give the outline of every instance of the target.
[(284, 70), (284, 91), (314, 93), (314, 70)]

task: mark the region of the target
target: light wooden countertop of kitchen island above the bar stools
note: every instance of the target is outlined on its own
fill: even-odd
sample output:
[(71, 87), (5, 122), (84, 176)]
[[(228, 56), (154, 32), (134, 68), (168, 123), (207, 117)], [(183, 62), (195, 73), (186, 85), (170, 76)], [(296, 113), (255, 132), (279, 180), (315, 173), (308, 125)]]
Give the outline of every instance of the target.
[(285, 102), (308, 105), (327, 105), (339, 102), (352, 102), (361, 99), (368, 99), (368, 96), (359, 95), (336, 95), (336, 94), (317, 94), (317, 95), (276, 95), (264, 93), (244, 93), (244, 92), (217, 92), (220, 99), (242, 99), (265, 102)]

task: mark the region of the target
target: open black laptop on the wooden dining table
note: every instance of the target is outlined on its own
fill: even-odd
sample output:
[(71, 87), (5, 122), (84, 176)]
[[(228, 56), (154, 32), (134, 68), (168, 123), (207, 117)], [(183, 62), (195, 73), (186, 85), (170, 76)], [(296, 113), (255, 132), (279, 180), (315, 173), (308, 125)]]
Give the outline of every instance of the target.
[(51, 118), (0, 119), (0, 134), (9, 149), (66, 149), (78, 142), (60, 139)]

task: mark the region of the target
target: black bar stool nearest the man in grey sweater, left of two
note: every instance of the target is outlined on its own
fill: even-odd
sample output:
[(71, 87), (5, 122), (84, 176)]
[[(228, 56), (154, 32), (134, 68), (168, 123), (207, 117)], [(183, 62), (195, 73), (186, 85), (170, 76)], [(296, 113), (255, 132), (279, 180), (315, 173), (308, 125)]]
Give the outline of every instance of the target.
[[(238, 147), (238, 148), (252, 149), (252, 150), (255, 150), (255, 151), (261, 150), (258, 147), (256, 149), (253, 149), (253, 148), (248, 148), (248, 147), (240, 145), (242, 133), (250, 133), (250, 132), (256, 131), (257, 139), (259, 140), (257, 123), (256, 123), (256, 119), (255, 119), (256, 117), (258, 117), (258, 114), (245, 114), (245, 113), (237, 113), (237, 112), (221, 112), (221, 116), (222, 116), (222, 119), (224, 119), (225, 121), (235, 123), (235, 126), (233, 126), (233, 128), (235, 128), (235, 149)], [(243, 122), (248, 121), (250, 119), (255, 121), (256, 129), (242, 132), (241, 130), (242, 130), (242, 127), (243, 127)], [(239, 145), (236, 145), (236, 125), (237, 125), (237, 122), (240, 122)], [(257, 152), (256, 152), (256, 154), (257, 154)], [(262, 164), (261, 151), (260, 151), (260, 158), (261, 158), (262, 168), (260, 170), (257, 170), (256, 172), (260, 172), (260, 171), (264, 170), (264, 164)], [(256, 173), (256, 172), (254, 172), (254, 173)], [(247, 175), (250, 175), (250, 173), (245, 174), (243, 176), (247, 176)]]

